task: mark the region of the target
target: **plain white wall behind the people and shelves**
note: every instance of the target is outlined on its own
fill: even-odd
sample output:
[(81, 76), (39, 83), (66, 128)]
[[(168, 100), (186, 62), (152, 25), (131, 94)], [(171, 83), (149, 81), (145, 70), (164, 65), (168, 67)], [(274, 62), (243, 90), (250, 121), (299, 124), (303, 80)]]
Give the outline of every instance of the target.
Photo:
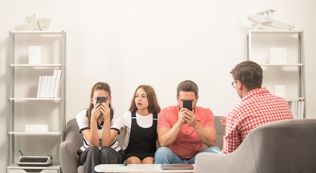
[[(67, 31), (67, 121), (89, 103), (92, 85), (108, 82), (113, 106), (128, 110), (138, 85), (151, 85), (161, 107), (176, 104), (176, 87), (190, 79), (198, 104), (225, 116), (239, 97), (230, 71), (247, 59), (243, 13), (268, 9), (274, 18), (304, 30), (306, 114), (316, 118), (316, 12), (303, 1), (23, 1), (0, 0), (0, 148), (7, 147), (9, 30), (24, 30), (24, 17), (51, 18), (50, 30)], [(5, 153), (5, 151), (3, 151)], [(0, 156), (6, 171), (6, 154)]]

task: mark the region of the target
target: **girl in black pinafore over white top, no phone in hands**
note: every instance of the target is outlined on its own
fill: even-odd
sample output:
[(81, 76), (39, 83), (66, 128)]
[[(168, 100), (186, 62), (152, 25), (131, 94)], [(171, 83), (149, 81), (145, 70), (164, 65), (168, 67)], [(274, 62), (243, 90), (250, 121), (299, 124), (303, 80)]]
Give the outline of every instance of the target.
[(123, 160), (129, 164), (153, 164), (160, 111), (156, 94), (149, 85), (137, 87), (129, 111), (123, 114), (126, 138)]

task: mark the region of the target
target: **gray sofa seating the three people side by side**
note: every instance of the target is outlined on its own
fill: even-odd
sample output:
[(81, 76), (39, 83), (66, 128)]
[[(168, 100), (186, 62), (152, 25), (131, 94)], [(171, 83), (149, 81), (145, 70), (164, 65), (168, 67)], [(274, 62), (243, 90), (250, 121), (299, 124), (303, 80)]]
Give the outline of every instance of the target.
[[(223, 148), (223, 136), (225, 135), (225, 126), (220, 122), (222, 117), (215, 116), (215, 127), (217, 131), (216, 146)], [(123, 146), (123, 136), (118, 135), (119, 145)], [(83, 173), (83, 166), (79, 166), (77, 149), (82, 146), (83, 136), (79, 133), (79, 127), (76, 119), (69, 120), (66, 127), (66, 139), (60, 144), (60, 162), (63, 173)]]

